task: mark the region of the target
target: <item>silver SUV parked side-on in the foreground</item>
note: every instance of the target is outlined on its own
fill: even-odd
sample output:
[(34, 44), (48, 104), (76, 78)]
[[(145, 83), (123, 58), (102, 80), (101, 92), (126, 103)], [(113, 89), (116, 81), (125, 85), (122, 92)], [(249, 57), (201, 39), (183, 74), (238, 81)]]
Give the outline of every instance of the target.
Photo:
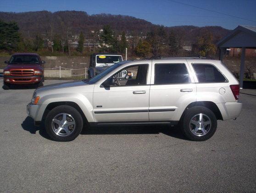
[[(133, 77), (119, 80), (123, 70)], [(123, 61), (89, 80), (37, 88), (27, 111), (56, 141), (71, 141), (89, 125), (160, 123), (179, 124), (187, 138), (204, 141), (217, 120), (239, 116), (238, 97), (239, 83), (221, 61)]]

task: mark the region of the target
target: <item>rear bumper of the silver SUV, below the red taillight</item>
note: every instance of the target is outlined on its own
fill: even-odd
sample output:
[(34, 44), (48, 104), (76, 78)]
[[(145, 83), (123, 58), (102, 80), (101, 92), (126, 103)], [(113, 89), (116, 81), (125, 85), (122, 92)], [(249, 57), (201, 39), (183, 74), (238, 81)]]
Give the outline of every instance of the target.
[(222, 114), (223, 120), (237, 118), (242, 110), (242, 103), (231, 102), (231, 103), (219, 103), (216, 104)]

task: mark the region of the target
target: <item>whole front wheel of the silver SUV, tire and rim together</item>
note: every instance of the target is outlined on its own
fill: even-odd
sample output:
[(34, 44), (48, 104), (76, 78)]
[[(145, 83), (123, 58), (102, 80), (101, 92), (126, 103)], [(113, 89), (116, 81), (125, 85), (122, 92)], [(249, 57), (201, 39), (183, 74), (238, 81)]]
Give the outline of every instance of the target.
[(55, 141), (72, 141), (83, 128), (83, 118), (72, 106), (60, 105), (50, 110), (45, 119), (45, 129)]

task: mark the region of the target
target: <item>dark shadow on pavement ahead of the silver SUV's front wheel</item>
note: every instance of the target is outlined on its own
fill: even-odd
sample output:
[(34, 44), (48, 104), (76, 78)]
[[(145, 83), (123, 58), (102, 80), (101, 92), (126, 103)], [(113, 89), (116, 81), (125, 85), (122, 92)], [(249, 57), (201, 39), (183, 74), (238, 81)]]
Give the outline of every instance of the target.
[(46, 133), (45, 131), (45, 126), (44, 124), (41, 124), (40, 127), (36, 127), (34, 126), (34, 121), (31, 117), (27, 116), (26, 119), (22, 122), (21, 124), (22, 128), (25, 130), (25, 131), (28, 131), (30, 132), (31, 134), (36, 134), (37, 131), (39, 131), (39, 134), (44, 137), (44, 138), (47, 138), (49, 140), (50, 137), (48, 136), (48, 134)]

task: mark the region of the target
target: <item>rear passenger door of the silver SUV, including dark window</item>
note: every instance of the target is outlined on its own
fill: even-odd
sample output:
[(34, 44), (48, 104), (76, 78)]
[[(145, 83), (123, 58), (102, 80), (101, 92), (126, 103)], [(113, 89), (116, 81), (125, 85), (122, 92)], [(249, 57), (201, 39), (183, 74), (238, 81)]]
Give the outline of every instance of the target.
[(186, 60), (153, 60), (150, 121), (179, 121), (196, 100), (196, 85)]

